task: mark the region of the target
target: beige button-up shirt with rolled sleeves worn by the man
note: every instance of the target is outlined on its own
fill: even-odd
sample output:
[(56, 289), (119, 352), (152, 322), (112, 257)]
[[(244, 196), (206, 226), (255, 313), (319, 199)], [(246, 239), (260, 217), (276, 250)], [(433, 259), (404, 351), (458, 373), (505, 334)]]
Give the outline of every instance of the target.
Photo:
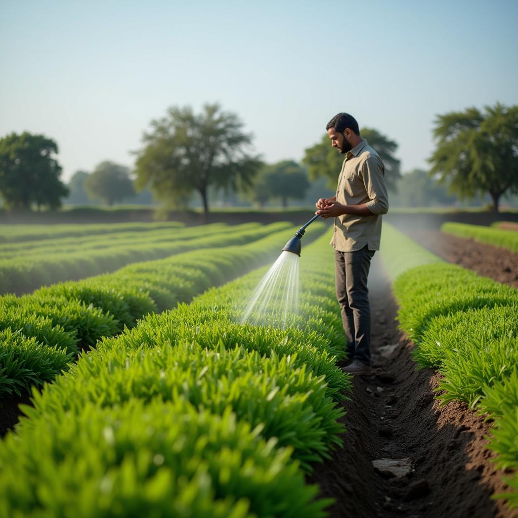
[(385, 186), (385, 166), (378, 153), (363, 139), (346, 153), (338, 177), (336, 200), (343, 205), (367, 204), (370, 216), (342, 214), (335, 218), (330, 244), (340, 252), (354, 252), (367, 245), (379, 250), (381, 214), (389, 210)]

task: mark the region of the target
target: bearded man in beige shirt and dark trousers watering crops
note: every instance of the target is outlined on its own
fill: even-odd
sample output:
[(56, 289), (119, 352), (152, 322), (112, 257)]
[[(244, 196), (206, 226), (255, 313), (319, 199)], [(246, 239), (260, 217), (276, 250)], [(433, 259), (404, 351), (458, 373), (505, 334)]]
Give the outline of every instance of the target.
[(322, 218), (335, 218), (331, 240), (335, 249), (336, 296), (341, 307), (347, 354), (343, 367), (354, 375), (372, 374), (370, 305), (367, 289), (370, 260), (380, 249), (381, 214), (389, 209), (385, 166), (359, 133), (356, 119), (338, 113), (326, 126), (331, 145), (346, 155), (336, 196), (316, 202)]

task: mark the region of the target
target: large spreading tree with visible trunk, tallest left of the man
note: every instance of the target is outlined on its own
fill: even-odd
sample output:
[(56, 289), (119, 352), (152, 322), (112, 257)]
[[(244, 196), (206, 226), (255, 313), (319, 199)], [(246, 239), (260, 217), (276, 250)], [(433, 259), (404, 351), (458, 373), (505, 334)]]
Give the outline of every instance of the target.
[(207, 215), (209, 186), (246, 188), (262, 165), (246, 151), (252, 136), (241, 131), (236, 114), (221, 111), (219, 104), (206, 104), (199, 114), (190, 107), (171, 107), (151, 126), (153, 131), (142, 138), (146, 147), (137, 152), (136, 185), (149, 183), (159, 199), (184, 205), (196, 191)]

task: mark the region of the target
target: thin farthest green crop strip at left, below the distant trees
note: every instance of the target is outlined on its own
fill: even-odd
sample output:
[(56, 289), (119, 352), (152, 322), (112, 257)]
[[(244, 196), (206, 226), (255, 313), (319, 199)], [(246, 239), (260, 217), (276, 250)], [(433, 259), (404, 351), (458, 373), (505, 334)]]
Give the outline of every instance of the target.
[(63, 224), (63, 225), (0, 225), (0, 242), (31, 241), (33, 239), (59, 239), (63, 237), (78, 237), (113, 232), (142, 232), (159, 228), (180, 228), (183, 223), (96, 223), (96, 224)]

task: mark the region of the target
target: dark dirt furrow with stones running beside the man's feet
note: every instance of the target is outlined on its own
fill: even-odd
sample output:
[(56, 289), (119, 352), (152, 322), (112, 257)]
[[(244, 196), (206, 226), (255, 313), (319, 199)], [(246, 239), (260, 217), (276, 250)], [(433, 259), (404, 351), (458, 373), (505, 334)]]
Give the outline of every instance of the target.
[[(397, 307), (379, 256), (370, 279), (372, 349), (376, 375), (354, 380), (345, 405), (344, 448), (315, 465), (310, 482), (337, 501), (333, 518), (510, 518), (491, 494), (505, 490), (484, 449), (484, 423), (466, 405), (438, 406), (434, 370), (415, 370), (412, 344), (397, 329)], [(396, 346), (386, 348), (386, 346)], [(385, 347), (385, 349), (382, 349)], [(392, 354), (390, 350), (393, 349)], [(404, 477), (387, 477), (371, 461), (410, 459)]]

